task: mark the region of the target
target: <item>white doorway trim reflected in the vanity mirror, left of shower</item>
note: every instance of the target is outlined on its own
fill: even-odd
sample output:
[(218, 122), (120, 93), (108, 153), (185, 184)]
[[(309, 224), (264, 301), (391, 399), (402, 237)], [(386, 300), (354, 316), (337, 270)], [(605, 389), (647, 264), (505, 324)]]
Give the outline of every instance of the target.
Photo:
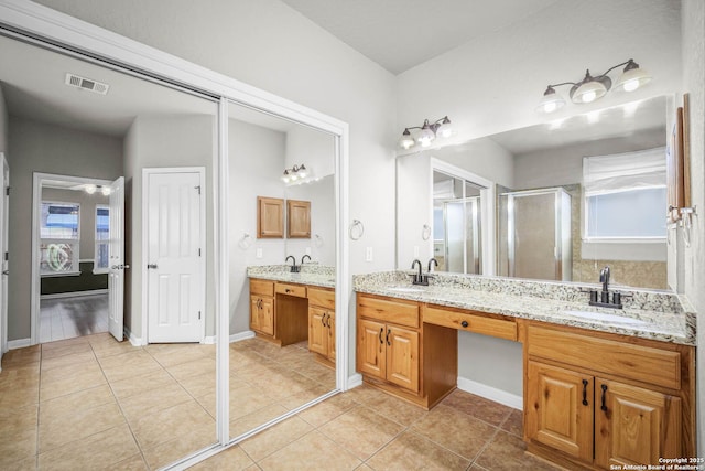
[[(487, 180), (476, 173), (469, 172), (459, 167), (455, 167), (443, 160), (431, 158), (431, 193), (433, 194), (433, 171), (438, 170), (443, 173), (447, 173), (453, 176), (458, 176), (467, 180), (471, 183), (477, 183), (480, 186), (485, 186), (480, 190), (480, 200), (482, 205), (482, 214), (480, 216), (482, 224), (482, 275), (495, 275), (496, 265), (496, 247), (495, 247), (495, 216), (496, 216), (496, 202), (497, 202), (497, 186), (491, 180)], [(431, 218), (433, 221), (433, 204), (431, 205)], [(430, 253), (433, 254), (433, 237), (429, 237)]]

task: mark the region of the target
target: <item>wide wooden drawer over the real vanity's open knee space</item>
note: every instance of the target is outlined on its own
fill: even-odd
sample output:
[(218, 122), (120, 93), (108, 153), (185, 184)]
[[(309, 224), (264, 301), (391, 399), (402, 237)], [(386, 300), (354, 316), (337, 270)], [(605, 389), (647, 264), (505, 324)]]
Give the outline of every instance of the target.
[(513, 321), (431, 306), (424, 307), (422, 312), (425, 323), (517, 341), (517, 323)]

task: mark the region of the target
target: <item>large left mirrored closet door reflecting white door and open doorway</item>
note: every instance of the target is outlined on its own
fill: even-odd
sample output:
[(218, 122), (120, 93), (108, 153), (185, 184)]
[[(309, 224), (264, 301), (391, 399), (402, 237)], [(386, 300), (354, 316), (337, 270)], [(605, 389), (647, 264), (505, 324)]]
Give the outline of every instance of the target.
[(0, 468), (156, 469), (215, 443), (217, 103), (4, 36), (0, 62), (8, 340), (33, 343), (2, 357)]

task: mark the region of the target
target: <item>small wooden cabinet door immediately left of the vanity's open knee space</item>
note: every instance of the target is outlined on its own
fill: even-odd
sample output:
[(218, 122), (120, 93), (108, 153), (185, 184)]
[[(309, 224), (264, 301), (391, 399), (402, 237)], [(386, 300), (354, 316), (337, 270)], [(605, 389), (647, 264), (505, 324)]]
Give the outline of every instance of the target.
[(387, 324), (387, 381), (419, 392), (419, 332)]

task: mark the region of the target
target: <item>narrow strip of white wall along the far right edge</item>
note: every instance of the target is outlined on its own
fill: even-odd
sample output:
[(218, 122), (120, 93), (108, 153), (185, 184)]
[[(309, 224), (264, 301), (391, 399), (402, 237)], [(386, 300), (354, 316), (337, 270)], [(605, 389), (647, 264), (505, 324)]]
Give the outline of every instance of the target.
[[(684, 248), (685, 295), (693, 302), (697, 317), (697, 343), (705, 344), (705, 2), (683, 0), (683, 92), (690, 94), (691, 183), (692, 204), (699, 215), (693, 220), (691, 246)], [(704, 349), (697, 349), (696, 363), (705, 362)], [(697, 456), (705, 456), (705, 370), (697, 370)]]

